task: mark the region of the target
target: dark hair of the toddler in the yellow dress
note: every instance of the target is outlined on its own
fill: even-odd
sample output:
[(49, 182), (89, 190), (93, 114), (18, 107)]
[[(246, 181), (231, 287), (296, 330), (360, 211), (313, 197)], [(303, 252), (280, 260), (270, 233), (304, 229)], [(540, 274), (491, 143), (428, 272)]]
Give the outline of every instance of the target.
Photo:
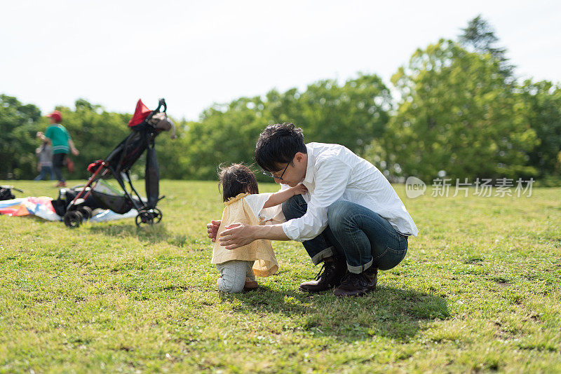
[(242, 164), (219, 166), (218, 189), (222, 186), (222, 200), (227, 202), (240, 193), (259, 193), (257, 179), (251, 169)]

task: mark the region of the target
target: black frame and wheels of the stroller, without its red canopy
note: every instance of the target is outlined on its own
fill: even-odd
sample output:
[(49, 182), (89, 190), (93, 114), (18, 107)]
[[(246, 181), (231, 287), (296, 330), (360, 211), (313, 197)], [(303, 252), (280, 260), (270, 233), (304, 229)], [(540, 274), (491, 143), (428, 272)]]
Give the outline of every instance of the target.
[[(160, 111), (162, 107), (163, 111)], [(115, 197), (116, 199), (124, 199), (120, 200), (121, 208), (111, 209), (111, 207), (109, 207), (109, 209), (117, 210), (117, 213), (126, 213), (130, 211), (130, 209), (136, 209), (138, 213), (135, 218), (135, 223), (138, 227), (143, 224), (152, 225), (161, 221), (162, 212), (160, 209), (156, 208), (156, 204), (159, 200), (165, 198), (165, 196), (158, 196), (159, 173), (156, 151), (154, 149), (154, 139), (162, 130), (156, 128), (150, 120), (155, 114), (165, 113), (166, 110), (167, 106), (165, 104), (165, 99), (160, 99), (158, 107), (154, 111), (151, 111), (151, 113), (144, 118), (142, 123), (131, 127), (132, 132), (128, 135), (128, 137), (126, 137), (126, 139), (121, 141), (121, 143), (116, 146), (111, 153), (109, 153), (107, 158), (104, 160), (97, 160), (88, 167), (88, 170), (93, 172), (92, 176), (90, 176), (86, 185), (81, 187), (81, 191), (76, 194), (72, 202), (70, 202), (66, 208), (64, 221), (67, 227), (78, 227), (83, 220), (90, 219), (92, 209), (86, 206), (86, 199), (90, 195), (93, 195), (93, 197), (96, 198), (96, 193), (94, 188), (92, 188), (92, 185), (101, 179), (104, 179), (104, 177), (109, 176), (109, 173), (119, 183), (119, 186), (123, 189), (124, 195), (123, 197)], [(136, 144), (136, 148), (133, 149), (131, 154), (127, 151), (133, 141), (140, 142)], [(145, 175), (147, 202), (142, 200), (140, 194), (133, 186), (133, 182), (130, 179), (130, 167), (134, 165), (136, 160), (140, 158), (144, 151), (148, 151)], [(117, 157), (119, 160), (115, 162)], [(130, 193), (127, 191), (126, 184), (123, 181), (123, 175), (126, 176), (126, 181), (128, 181), (128, 185), (130, 186)]]

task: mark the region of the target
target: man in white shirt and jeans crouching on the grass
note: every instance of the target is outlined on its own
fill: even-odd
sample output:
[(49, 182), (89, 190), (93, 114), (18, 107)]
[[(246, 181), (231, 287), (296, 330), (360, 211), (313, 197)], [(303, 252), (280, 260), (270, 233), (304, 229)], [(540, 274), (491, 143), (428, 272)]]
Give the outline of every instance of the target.
[[(300, 284), (302, 291), (374, 291), (378, 270), (398, 265), (407, 254), (407, 237), (419, 233), (384, 174), (344, 146), (304, 144), (302, 129), (292, 123), (269, 125), (259, 135), (255, 160), (281, 188), (303, 183), (308, 193), (283, 203), (285, 223), (234, 223), (219, 241), (227, 249), (258, 239), (302, 242), (314, 265), (323, 262), (315, 280)], [(219, 226), (220, 221), (207, 225), (213, 242)]]

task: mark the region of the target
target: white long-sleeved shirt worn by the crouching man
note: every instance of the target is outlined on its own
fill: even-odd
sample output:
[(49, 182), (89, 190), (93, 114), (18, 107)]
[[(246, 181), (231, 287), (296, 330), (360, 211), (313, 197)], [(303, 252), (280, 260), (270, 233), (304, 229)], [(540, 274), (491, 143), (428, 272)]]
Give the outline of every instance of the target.
[(291, 240), (304, 242), (327, 227), (327, 209), (337, 200), (367, 207), (388, 220), (399, 233), (419, 230), (396, 191), (377, 167), (339, 144), (309, 143), (308, 167), (302, 183), (308, 188), (304, 216), (283, 223)]

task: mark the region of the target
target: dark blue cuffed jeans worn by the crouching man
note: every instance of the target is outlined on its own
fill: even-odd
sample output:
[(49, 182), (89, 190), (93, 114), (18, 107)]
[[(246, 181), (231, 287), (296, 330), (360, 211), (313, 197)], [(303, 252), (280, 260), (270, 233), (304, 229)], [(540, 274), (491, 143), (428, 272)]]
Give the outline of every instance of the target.
[[(283, 202), (286, 219), (306, 213), (302, 195)], [(371, 266), (388, 270), (407, 254), (407, 236), (398, 233), (372, 210), (348, 201), (336, 201), (327, 209), (327, 228), (312, 240), (302, 242), (314, 265), (335, 256), (346, 260), (349, 272), (360, 273)]]

